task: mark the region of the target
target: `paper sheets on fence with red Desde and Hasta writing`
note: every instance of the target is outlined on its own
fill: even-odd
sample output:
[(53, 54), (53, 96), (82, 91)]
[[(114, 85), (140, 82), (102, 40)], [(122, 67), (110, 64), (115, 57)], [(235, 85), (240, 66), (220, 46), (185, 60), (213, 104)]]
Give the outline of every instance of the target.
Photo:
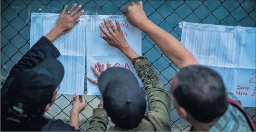
[(199, 64), (216, 70), (244, 107), (256, 106), (256, 28), (182, 25), (181, 43)]

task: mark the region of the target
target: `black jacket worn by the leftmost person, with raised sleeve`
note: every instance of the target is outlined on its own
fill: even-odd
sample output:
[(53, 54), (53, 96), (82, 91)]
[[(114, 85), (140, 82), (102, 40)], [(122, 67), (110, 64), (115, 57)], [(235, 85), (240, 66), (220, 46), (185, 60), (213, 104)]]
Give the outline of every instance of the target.
[[(1, 88), (1, 131), (80, 131), (64, 123), (62, 120), (47, 119), (43, 116), (34, 118), (20, 118), (8, 110), (7, 92), (14, 78), (22, 71), (34, 68), (37, 64), (48, 58), (58, 58), (60, 52), (53, 46), (53, 43), (46, 37), (41, 39), (19, 60), (11, 69), (9, 76)], [(8, 120), (14, 117), (20, 120), (20, 123)]]

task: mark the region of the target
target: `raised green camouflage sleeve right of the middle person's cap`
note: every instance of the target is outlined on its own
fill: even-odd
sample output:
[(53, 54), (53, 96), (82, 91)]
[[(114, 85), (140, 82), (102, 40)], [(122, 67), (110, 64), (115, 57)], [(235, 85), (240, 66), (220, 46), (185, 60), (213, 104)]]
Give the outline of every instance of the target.
[(163, 88), (158, 74), (147, 59), (135, 63), (134, 68), (147, 92), (149, 112), (146, 114), (156, 131), (170, 131), (171, 97)]

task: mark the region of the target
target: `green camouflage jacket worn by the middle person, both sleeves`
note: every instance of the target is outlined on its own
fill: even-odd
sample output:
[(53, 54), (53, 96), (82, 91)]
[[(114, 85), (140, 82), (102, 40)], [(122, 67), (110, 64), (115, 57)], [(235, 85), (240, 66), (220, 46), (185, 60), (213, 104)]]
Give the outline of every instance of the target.
[[(110, 127), (108, 131), (171, 131), (170, 106), (172, 104), (168, 91), (163, 88), (158, 74), (147, 59), (135, 63), (134, 68), (147, 92), (148, 109), (138, 127), (127, 130)], [(108, 118), (104, 109), (94, 109), (87, 131), (107, 131)]]

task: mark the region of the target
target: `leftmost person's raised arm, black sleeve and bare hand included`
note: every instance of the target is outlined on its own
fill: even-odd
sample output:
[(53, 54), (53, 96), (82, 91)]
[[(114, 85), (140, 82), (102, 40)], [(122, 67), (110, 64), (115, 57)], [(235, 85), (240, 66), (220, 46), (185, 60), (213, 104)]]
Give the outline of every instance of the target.
[(34, 68), (44, 59), (58, 58), (58, 56), (60, 56), (60, 53), (53, 45), (53, 42), (58, 38), (58, 36), (72, 29), (72, 27), (79, 22), (78, 18), (83, 13), (83, 11), (81, 11), (79, 14), (74, 15), (65, 14), (66, 9), (67, 5), (64, 7), (55, 27), (53, 27), (46, 36), (42, 36), (41, 39), (39, 39), (39, 41), (37, 41), (37, 43), (34, 44), (34, 46), (10, 70), (10, 74), (1, 88), (1, 103), (7, 103), (7, 91), (10, 83), (20, 72)]

